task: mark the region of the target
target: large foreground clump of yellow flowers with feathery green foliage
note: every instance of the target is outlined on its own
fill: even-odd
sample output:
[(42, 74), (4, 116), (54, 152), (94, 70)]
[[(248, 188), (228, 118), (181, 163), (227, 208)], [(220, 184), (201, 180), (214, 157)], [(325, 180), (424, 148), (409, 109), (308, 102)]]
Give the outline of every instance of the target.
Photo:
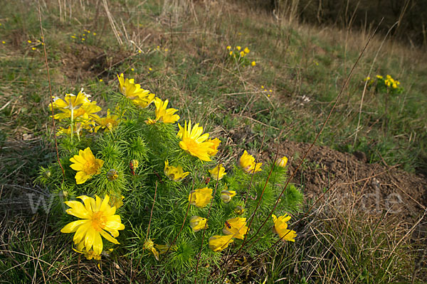
[[(250, 53), (227, 50), (238, 60)], [(253, 250), (265, 249), (276, 234), (295, 241), (288, 213), (301, 204), (300, 191), (286, 188), (276, 209), (281, 216), (270, 213), (277, 185), (287, 179), (285, 156), (260, 162), (248, 149), (230, 162), (220, 138), (206, 131), (209, 124), (180, 121), (188, 111), (125, 74), (117, 75), (108, 103), (103, 111), (80, 89), (49, 104), (59, 123), (61, 164), (41, 168), (38, 182), (55, 193), (52, 216), (60, 232), (73, 234), (75, 253), (95, 261), (127, 255), (137, 260), (134, 267), (157, 262), (178, 275), (197, 258), (209, 263), (238, 248), (258, 228), (263, 238)]]

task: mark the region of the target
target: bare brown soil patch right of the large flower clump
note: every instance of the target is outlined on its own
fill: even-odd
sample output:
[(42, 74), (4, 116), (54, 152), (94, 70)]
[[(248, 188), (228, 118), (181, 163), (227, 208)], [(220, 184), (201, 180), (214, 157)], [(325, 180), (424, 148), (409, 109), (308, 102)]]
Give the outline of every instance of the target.
[[(310, 148), (309, 143), (285, 141), (279, 156), (289, 158), (290, 175)], [(275, 153), (273, 153), (274, 155)], [(366, 163), (363, 153), (341, 153), (313, 146), (292, 182), (300, 185), (307, 199), (325, 197), (335, 205), (353, 204), (354, 209), (401, 214), (416, 220), (427, 207), (427, 178), (399, 168)]]

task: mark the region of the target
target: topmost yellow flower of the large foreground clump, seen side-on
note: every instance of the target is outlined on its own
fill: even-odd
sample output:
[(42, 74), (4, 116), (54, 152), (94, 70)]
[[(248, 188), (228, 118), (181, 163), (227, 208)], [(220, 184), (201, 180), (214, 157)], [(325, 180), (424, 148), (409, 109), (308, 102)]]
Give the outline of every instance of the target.
[(133, 79), (126, 79), (123, 76), (123, 73), (117, 75), (119, 78), (119, 89), (120, 92), (125, 95), (125, 97), (132, 99), (132, 102), (137, 104), (139, 107), (145, 109), (149, 106), (154, 100), (155, 94), (152, 94), (147, 89), (142, 89), (140, 84), (135, 84)]

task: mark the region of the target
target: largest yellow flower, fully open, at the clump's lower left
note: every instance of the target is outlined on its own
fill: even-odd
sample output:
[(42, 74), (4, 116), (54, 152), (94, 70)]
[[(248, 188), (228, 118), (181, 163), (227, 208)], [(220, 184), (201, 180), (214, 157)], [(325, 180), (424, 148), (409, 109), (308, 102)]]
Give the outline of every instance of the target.
[[(119, 230), (125, 229), (119, 215), (115, 215), (115, 207), (110, 207), (108, 204), (110, 197), (105, 195), (105, 198), (95, 196), (92, 197), (82, 195), (78, 197), (83, 201), (65, 201), (70, 208), (66, 212), (70, 215), (80, 218), (63, 227), (62, 233), (75, 233), (73, 241), (78, 245), (78, 249), (83, 249), (88, 252), (91, 249), (99, 256), (102, 253), (102, 238), (113, 244), (119, 244), (117, 236)], [(80, 244), (83, 242), (83, 246)], [(80, 244), (80, 245), (79, 245)]]

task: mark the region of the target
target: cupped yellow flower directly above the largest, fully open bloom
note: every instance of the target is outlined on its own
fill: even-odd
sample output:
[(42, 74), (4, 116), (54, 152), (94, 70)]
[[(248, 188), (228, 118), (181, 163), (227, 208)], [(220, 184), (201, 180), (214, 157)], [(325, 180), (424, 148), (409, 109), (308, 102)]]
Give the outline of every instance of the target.
[(75, 174), (75, 182), (78, 185), (92, 178), (93, 175), (100, 173), (100, 168), (104, 165), (104, 161), (95, 158), (89, 147), (85, 148), (84, 151), (79, 150), (78, 155), (70, 158), (70, 162), (73, 163), (70, 165), (70, 168), (78, 171)]

